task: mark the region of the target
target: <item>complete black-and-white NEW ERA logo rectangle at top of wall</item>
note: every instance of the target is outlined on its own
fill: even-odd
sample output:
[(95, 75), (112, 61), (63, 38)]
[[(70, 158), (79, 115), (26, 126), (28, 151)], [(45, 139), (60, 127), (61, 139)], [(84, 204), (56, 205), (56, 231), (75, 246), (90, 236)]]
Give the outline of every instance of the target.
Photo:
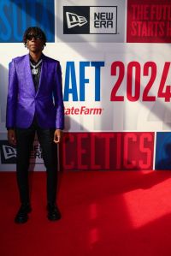
[(63, 6), (64, 34), (116, 34), (117, 6)]

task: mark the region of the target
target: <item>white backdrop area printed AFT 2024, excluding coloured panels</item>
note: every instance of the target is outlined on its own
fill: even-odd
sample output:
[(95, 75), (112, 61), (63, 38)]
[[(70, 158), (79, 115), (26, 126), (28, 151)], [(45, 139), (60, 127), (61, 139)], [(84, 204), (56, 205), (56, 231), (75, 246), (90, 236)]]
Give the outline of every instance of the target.
[[(63, 34), (62, 7), (78, 5), (117, 6), (117, 34)], [(170, 44), (127, 43), (126, 38), (127, 1), (55, 1), (55, 42), (47, 43), (44, 54), (62, 65), (65, 132), (170, 131)], [(6, 140), (9, 62), (24, 54), (21, 43), (0, 44), (1, 140)], [(13, 164), (1, 164), (1, 170), (14, 169)], [(44, 170), (44, 165), (35, 169)]]

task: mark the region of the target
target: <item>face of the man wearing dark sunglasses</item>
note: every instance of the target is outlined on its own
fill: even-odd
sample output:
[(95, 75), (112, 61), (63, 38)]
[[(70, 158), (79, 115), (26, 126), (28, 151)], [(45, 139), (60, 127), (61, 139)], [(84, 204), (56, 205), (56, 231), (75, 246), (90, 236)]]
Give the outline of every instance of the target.
[(27, 35), (27, 48), (31, 52), (40, 52), (43, 50), (44, 43), (41, 36), (28, 34)]

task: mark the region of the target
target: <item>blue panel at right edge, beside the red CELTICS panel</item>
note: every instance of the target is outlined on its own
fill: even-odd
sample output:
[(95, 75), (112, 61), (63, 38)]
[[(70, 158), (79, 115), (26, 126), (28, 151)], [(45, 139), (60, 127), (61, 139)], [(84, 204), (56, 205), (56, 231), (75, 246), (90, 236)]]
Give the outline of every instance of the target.
[(171, 170), (171, 132), (156, 133), (156, 170)]

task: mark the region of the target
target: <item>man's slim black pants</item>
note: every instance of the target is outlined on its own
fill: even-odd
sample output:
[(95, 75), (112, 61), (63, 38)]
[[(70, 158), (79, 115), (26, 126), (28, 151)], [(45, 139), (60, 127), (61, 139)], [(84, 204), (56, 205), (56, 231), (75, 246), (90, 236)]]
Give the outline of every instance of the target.
[(55, 129), (43, 129), (38, 127), (34, 119), (30, 128), (16, 128), (16, 177), (19, 188), (21, 204), (30, 202), (28, 168), (29, 158), (35, 133), (37, 132), (38, 141), (42, 147), (44, 165), (47, 173), (47, 203), (56, 202), (57, 186), (57, 146), (53, 142)]

